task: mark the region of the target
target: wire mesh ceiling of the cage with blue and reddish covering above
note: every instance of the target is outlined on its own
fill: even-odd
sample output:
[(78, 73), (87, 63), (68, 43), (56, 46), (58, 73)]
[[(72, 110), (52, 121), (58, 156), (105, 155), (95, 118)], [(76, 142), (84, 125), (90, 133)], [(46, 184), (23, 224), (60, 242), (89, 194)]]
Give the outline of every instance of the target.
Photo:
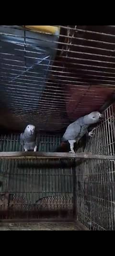
[(115, 26), (0, 26), (0, 126), (62, 131), (115, 91)]

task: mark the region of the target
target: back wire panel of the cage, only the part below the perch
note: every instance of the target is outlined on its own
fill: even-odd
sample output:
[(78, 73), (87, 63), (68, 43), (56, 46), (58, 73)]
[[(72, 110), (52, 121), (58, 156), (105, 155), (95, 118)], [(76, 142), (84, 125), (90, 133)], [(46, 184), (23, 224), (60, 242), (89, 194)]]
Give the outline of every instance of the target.
[[(1, 200), (3, 194), (6, 195), (8, 192), (8, 210), (12, 211), (13, 217), (20, 218), (18, 212), (21, 212), (26, 218), (28, 215), (31, 218), (33, 215), (38, 218), (40, 214), (38, 210), (42, 211), (41, 217), (45, 216), (43, 211), (49, 210), (52, 211), (50, 216), (53, 213), (56, 215), (58, 211), (65, 211), (66, 215), (72, 216), (72, 171), (69, 168), (62, 169), (61, 165), (60, 169), (57, 169), (56, 165), (46, 168), (46, 165), (49, 164), (48, 161), (41, 161), (41, 163), (42, 167), (39, 168), (34, 161), (30, 166), (30, 163), (28, 165), (27, 162), (11, 160), (10, 170), (5, 169), (3, 173), (0, 173), (2, 179)], [(4, 200), (1, 204), (3, 209), (5, 209)]]

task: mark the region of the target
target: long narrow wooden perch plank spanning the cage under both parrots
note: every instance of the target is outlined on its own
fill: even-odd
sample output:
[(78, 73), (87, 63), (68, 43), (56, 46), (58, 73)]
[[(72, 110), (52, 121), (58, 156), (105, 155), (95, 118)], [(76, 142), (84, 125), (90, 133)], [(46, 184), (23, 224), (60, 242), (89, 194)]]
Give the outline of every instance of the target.
[(87, 158), (115, 160), (115, 156), (93, 155), (92, 153), (60, 153), (60, 152), (0, 152), (0, 159), (19, 158)]

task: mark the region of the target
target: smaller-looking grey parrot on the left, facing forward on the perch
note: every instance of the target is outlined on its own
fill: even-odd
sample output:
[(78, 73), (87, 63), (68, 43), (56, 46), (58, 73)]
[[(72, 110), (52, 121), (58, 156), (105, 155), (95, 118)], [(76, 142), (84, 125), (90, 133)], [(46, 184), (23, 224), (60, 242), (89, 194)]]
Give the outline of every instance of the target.
[(20, 143), (24, 148), (24, 151), (36, 151), (37, 150), (37, 137), (35, 136), (35, 126), (28, 124), (24, 130), (24, 133), (20, 134)]

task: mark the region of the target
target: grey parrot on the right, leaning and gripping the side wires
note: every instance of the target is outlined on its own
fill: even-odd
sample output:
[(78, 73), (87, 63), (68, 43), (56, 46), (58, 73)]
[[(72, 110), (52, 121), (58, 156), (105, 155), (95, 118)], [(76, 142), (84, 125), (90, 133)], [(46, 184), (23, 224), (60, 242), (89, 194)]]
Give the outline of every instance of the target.
[[(65, 134), (62, 137), (62, 142), (69, 141), (71, 149), (69, 152), (75, 153), (73, 149), (74, 143), (78, 143), (81, 137), (87, 133), (87, 129), (90, 125), (99, 122), (99, 120), (102, 118), (103, 116), (100, 112), (94, 111), (88, 115), (78, 118), (75, 122), (69, 124)], [(93, 130), (89, 133), (89, 136), (92, 136)]]

